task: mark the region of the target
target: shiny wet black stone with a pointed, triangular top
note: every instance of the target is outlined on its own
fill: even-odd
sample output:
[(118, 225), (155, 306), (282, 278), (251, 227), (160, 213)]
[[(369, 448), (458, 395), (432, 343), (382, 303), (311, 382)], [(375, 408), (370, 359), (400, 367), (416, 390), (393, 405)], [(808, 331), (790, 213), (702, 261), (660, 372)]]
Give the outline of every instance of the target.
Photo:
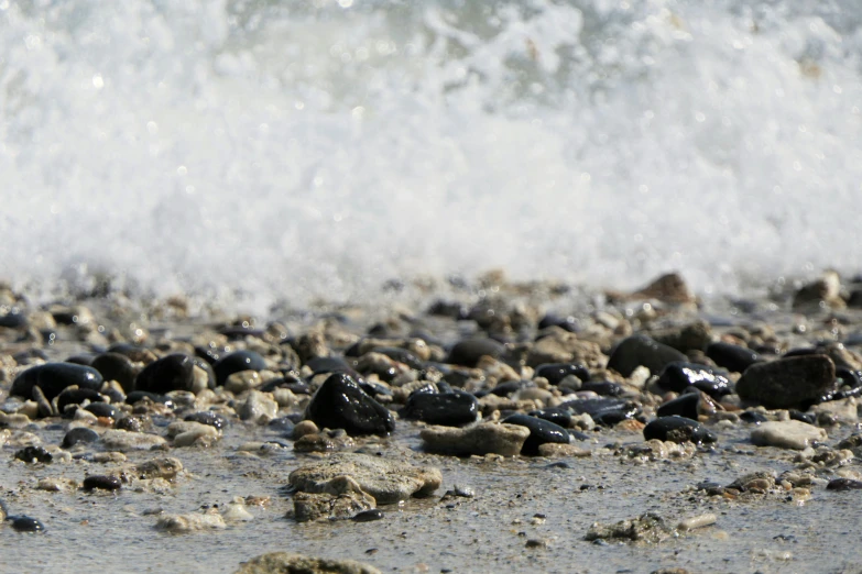
[(345, 429), (351, 437), (385, 435), (395, 430), (392, 413), (343, 373), (330, 375), (317, 389), (306, 418), (320, 429)]

